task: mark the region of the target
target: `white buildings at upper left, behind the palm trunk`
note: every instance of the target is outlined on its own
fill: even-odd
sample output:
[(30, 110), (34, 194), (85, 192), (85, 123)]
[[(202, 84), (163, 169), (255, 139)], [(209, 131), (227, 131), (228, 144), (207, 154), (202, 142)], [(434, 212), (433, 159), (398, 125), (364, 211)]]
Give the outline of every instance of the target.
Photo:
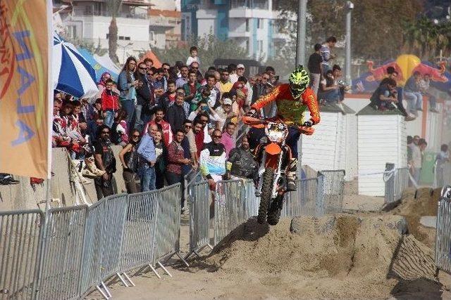
[[(60, 0), (61, 27), (73, 39), (109, 48), (111, 0)], [(179, 0), (180, 1), (180, 0)], [(120, 63), (151, 48), (166, 48), (180, 41), (180, 5), (177, 0), (123, 0), (116, 18)], [(178, 8), (178, 10), (177, 10)]]

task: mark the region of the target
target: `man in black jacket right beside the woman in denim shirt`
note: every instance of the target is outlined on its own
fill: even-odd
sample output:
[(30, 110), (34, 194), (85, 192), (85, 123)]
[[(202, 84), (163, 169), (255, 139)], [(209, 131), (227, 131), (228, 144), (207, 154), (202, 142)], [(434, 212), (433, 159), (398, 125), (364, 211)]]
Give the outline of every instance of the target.
[(154, 98), (154, 92), (152, 91), (151, 84), (149, 84), (149, 80), (147, 79), (147, 65), (145, 63), (140, 63), (140, 65), (138, 65), (136, 78), (140, 80), (142, 84), (140, 85), (140, 88), (136, 89), (137, 104), (135, 105), (135, 129), (142, 131), (142, 128), (144, 127), (144, 122), (142, 119), (144, 115), (152, 113), (149, 108), (151, 108), (150, 105), (152, 105), (152, 100)]

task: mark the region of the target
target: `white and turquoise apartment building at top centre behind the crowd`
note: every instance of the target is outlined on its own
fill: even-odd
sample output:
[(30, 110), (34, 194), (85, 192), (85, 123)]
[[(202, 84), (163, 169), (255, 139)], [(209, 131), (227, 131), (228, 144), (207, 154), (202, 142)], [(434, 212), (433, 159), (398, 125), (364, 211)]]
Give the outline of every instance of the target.
[(233, 39), (257, 60), (275, 56), (290, 42), (279, 30), (282, 16), (273, 0), (182, 0), (181, 10), (183, 40), (211, 33)]

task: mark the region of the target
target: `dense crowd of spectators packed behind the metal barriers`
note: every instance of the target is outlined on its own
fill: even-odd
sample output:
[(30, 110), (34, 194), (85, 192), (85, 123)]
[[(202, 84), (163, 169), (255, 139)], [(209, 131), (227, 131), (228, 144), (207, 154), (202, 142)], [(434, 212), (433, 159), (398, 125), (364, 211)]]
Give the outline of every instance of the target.
[[(240, 120), (278, 84), (275, 70), (247, 76), (245, 65), (230, 64), (202, 74), (195, 47), (187, 64), (156, 68), (149, 58), (129, 57), (117, 82), (102, 74), (95, 98), (54, 92), (53, 146), (81, 162), (78, 171), (94, 178), (99, 199), (114, 193), (113, 145), (123, 147), (116, 156), (128, 193), (183, 185), (198, 180), (198, 171), (212, 189), (222, 178), (254, 177), (257, 163), (247, 137), (240, 138)], [(266, 117), (276, 115), (275, 105), (265, 108)]]

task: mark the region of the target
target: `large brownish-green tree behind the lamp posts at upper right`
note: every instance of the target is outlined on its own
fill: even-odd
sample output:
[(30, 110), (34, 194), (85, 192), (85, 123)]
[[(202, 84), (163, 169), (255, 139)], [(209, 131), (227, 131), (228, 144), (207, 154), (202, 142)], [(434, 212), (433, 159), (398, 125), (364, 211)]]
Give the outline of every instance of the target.
[[(297, 13), (298, 0), (278, 0), (276, 7), (285, 13)], [(402, 52), (404, 24), (421, 12), (421, 0), (354, 0), (352, 11), (352, 53), (354, 58), (394, 58)], [(345, 0), (307, 2), (309, 43), (323, 42), (330, 35), (345, 37)], [(286, 20), (282, 20), (286, 22)]]

